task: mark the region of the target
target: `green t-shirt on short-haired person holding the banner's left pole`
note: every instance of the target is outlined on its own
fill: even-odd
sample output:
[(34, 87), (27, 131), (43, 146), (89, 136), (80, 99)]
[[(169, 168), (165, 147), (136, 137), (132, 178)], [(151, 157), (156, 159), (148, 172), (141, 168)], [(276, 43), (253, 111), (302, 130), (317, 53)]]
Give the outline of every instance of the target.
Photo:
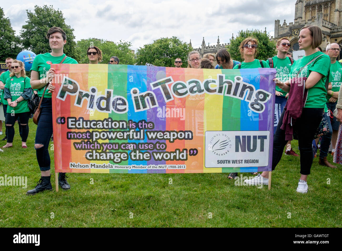
[[(59, 64), (63, 58), (65, 57), (65, 54), (63, 54), (60, 57), (53, 57), (49, 52), (44, 54), (39, 54), (35, 57), (32, 63), (31, 71), (37, 71), (39, 73), (39, 79), (45, 78), (45, 74), (48, 70), (50, 70), (52, 64)], [(78, 62), (71, 58), (67, 57), (63, 64), (78, 64)], [(45, 86), (38, 89), (38, 96), (41, 97), (43, 95)], [(51, 98), (51, 93), (48, 93), (48, 91), (45, 92), (44, 98)]]

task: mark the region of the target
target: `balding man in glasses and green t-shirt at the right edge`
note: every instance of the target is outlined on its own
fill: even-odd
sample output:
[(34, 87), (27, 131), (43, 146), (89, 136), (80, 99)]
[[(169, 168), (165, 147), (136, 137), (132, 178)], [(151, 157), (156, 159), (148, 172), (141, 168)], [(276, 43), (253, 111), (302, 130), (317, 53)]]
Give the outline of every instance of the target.
[(336, 166), (331, 165), (327, 161), (327, 155), (330, 142), (332, 144), (331, 155), (333, 155), (335, 152), (335, 144), (337, 141), (338, 129), (340, 126), (340, 122), (338, 122), (336, 117), (331, 114), (336, 108), (337, 100), (339, 97), (339, 90), (342, 82), (342, 64), (336, 61), (337, 57), (340, 54), (340, 46), (336, 43), (328, 44), (326, 47), (326, 54), (330, 57), (330, 82), (332, 88), (331, 90), (328, 90), (326, 104), (327, 108), (330, 110), (330, 113), (328, 114), (330, 115), (330, 129), (332, 129), (332, 135), (326, 134), (322, 136), (318, 163), (323, 166), (336, 168)]

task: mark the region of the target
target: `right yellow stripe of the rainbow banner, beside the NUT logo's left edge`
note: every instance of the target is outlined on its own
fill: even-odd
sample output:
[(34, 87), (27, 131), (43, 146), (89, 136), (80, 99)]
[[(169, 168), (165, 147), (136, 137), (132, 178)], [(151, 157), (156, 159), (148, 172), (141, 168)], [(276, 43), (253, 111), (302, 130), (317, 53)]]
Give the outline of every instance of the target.
[[(204, 80), (217, 79), (217, 74), (221, 72), (221, 70), (203, 69)], [(214, 84), (211, 86), (214, 87)], [(222, 104), (223, 96), (206, 94), (204, 104), (204, 133), (206, 131), (222, 131)], [(204, 138), (203, 149), (205, 147)], [(208, 149), (205, 150), (208, 151)], [(206, 168), (204, 163), (205, 154), (203, 154), (203, 172), (222, 172), (222, 168)]]

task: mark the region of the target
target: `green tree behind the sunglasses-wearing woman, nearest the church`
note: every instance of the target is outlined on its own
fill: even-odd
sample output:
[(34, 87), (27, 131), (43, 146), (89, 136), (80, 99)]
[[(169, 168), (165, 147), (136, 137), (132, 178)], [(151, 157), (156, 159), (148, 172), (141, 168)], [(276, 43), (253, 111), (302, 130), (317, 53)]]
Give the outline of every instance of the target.
[(265, 32), (261, 30), (240, 30), (237, 37), (231, 39), (230, 44), (227, 46), (232, 59), (240, 62), (244, 61), (240, 54), (240, 43), (248, 37), (258, 40), (257, 50), (259, 53), (256, 58), (266, 60), (276, 54), (276, 44), (269, 40), (269, 37)]

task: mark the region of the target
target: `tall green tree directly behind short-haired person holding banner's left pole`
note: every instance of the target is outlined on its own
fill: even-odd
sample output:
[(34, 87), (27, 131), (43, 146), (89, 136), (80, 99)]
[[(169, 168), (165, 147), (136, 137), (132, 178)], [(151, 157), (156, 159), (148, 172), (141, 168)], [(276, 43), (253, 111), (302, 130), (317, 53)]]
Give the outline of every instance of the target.
[(34, 12), (26, 10), (28, 20), (21, 30), (21, 38), (25, 49), (34, 53), (42, 54), (51, 51), (49, 40), (46, 38), (47, 31), (53, 27), (60, 27), (66, 33), (67, 43), (64, 45), (64, 53), (80, 60), (80, 55), (76, 47), (74, 29), (65, 24), (65, 18), (62, 11), (53, 9), (53, 6), (44, 5), (39, 7), (35, 5)]

